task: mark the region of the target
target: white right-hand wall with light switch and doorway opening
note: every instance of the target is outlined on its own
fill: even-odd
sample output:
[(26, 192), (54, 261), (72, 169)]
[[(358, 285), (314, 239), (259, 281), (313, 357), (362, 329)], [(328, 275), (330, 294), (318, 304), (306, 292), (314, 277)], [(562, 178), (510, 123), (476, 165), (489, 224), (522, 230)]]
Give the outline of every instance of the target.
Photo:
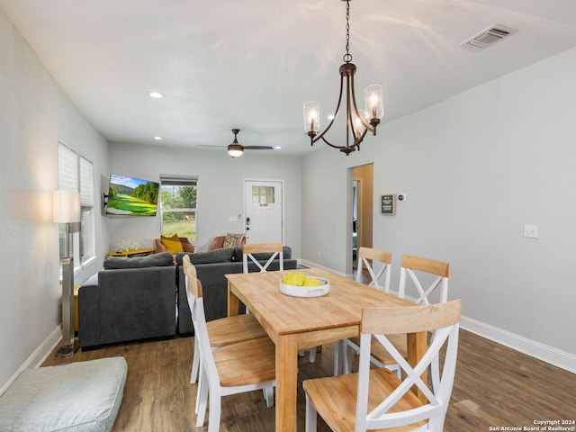
[[(374, 247), (450, 263), (464, 327), (576, 372), (576, 49), (305, 157), (302, 258), (347, 273), (347, 168), (374, 161)], [(395, 216), (383, 193), (407, 193)], [(540, 237), (523, 238), (523, 224)], [(321, 256), (318, 256), (321, 249)]]

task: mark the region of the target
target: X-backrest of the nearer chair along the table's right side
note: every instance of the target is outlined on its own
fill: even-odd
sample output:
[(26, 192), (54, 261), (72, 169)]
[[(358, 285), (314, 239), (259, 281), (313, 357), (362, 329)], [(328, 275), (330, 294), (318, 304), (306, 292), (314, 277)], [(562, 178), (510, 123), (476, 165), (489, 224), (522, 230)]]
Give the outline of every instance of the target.
[[(431, 275), (433, 277), (432, 282), (426, 289), (422, 286), (424, 275)], [(438, 302), (444, 303), (448, 300), (449, 275), (450, 265), (444, 261), (404, 255), (401, 260), (400, 287), (398, 295), (401, 298), (406, 297), (407, 279), (410, 277), (410, 280), (418, 290), (418, 297), (415, 298), (414, 302), (419, 304), (430, 304), (430, 294), (434, 293), (437, 288), (439, 288), (440, 299)]]

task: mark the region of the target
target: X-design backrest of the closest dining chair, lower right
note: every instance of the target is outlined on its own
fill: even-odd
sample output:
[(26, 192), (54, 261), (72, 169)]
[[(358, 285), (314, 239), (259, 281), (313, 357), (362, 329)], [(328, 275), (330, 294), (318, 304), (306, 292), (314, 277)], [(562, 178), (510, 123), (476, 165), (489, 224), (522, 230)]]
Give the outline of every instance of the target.
[[(356, 431), (393, 428), (420, 421), (425, 430), (443, 430), (446, 410), (454, 384), (458, 331), (462, 302), (455, 300), (413, 308), (369, 308), (362, 313), (358, 392), (356, 400)], [(432, 332), (428, 350), (412, 367), (385, 335)], [(373, 338), (374, 336), (374, 338)], [(390, 371), (374, 379), (371, 374), (371, 344), (379, 343), (401, 366), (400, 380)], [(440, 367), (440, 351), (446, 347), (444, 364)], [(420, 377), (430, 367), (431, 385)], [(368, 401), (370, 386), (382, 387), (382, 401)], [(410, 390), (418, 387), (426, 401), (420, 401)], [(372, 407), (368, 412), (369, 405)], [(419, 429), (420, 430), (420, 429)]]

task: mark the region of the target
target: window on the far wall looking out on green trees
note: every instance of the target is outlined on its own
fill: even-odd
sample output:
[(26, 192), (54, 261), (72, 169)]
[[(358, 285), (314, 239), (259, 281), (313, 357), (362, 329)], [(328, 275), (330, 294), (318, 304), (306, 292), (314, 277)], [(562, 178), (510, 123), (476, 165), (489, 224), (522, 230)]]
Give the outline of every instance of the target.
[(194, 242), (196, 232), (196, 195), (198, 177), (160, 175), (160, 213), (162, 235), (188, 238)]

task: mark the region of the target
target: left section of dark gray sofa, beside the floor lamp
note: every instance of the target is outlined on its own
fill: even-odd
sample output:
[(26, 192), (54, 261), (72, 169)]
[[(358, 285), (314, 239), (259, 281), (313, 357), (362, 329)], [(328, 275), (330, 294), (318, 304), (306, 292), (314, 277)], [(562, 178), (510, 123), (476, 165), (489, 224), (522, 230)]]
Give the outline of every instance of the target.
[(175, 266), (169, 252), (108, 257), (78, 290), (80, 347), (175, 336)]

